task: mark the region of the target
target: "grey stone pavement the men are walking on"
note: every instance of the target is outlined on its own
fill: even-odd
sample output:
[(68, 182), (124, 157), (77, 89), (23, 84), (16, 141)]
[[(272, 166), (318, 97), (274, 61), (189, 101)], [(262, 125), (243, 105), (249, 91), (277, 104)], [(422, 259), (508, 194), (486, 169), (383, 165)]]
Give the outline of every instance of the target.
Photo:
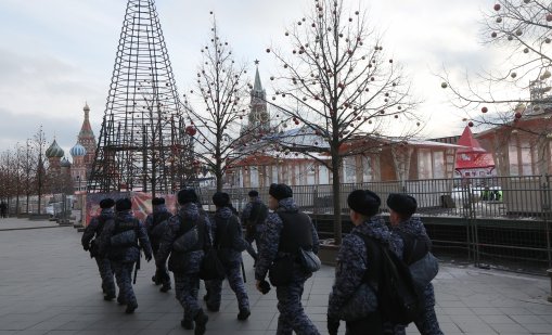
[[(72, 227), (2, 230), (21, 228), (23, 221), (28, 220), (0, 220), (0, 335), (193, 334), (180, 327), (182, 309), (174, 292), (159, 293), (152, 284), (153, 263), (142, 262), (134, 286), (139, 308), (127, 315), (124, 307), (102, 299), (95, 262), (80, 246), (81, 233)], [(209, 313), (207, 334), (275, 333), (275, 293), (262, 296), (254, 289), (252, 259), (244, 258), (252, 315), (246, 322), (235, 319), (235, 297), (224, 284), (221, 310)], [(332, 282), (333, 268), (323, 267), (305, 287), (304, 305), (321, 334), (328, 334)], [(434, 284), (445, 334), (552, 334), (548, 278), (444, 263)], [(343, 323), (339, 331), (344, 334)], [(418, 334), (412, 327), (407, 333)]]

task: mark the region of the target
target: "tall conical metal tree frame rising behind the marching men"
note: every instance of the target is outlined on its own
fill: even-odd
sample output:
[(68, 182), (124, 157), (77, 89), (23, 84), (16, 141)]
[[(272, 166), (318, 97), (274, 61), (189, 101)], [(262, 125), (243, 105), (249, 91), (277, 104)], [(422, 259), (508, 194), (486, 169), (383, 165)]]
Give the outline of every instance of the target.
[(184, 186), (193, 172), (184, 129), (155, 3), (129, 0), (88, 191), (155, 195)]

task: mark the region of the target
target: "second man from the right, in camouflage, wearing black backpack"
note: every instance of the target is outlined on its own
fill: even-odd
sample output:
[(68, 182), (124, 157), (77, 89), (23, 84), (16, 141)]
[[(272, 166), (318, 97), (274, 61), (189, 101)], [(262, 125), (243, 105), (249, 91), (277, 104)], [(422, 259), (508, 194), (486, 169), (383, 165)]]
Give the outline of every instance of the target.
[[(396, 241), (378, 212), (381, 199), (368, 190), (356, 190), (347, 197), (350, 209), (350, 219), (355, 226), (351, 233), (343, 239), (337, 254), (335, 267), (335, 282), (332, 286), (328, 305), (328, 331), (330, 335), (336, 335), (339, 327), (341, 311), (347, 302), (357, 294), (364, 282), (368, 273), (373, 273), (370, 268), (367, 246), (361, 236), (368, 235), (389, 244), (393, 252), (397, 250)], [(374, 275), (377, 278), (377, 275)], [(384, 324), (377, 310), (375, 294), (368, 291), (364, 297), (358, 299), (363, 306), (354, 307), (357, 310), (365, 310), (365, 315), (355, 321), (346, 321), (346, 334), (384, 334)], [(364, 306), (365, 305), (365, 306)]]

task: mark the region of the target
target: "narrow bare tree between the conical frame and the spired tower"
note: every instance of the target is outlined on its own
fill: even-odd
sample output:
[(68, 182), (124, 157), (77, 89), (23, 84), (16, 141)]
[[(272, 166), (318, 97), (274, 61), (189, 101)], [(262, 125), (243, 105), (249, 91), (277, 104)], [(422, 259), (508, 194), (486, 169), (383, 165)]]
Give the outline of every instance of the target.
[[(213, 12), (211, 12), (213, 15)], [(202, 49), (202, 63), (197, 69), (196, 89), (184, 94), (184, 107), (191, 125), (187, 132), (195, 137), (196, 158), (193, 166), (198, 170), (203, 164), (217, 180), (217, 190), (222, 190), (223, 176), (232, 164), (244, 155), (243, 137), (240, 133), (241, 119), (246, 116), (247, 70), (245, 65), (234, 61), (232, 50), (220, 37), (217, 22), (213, 16), (210, 40)]]

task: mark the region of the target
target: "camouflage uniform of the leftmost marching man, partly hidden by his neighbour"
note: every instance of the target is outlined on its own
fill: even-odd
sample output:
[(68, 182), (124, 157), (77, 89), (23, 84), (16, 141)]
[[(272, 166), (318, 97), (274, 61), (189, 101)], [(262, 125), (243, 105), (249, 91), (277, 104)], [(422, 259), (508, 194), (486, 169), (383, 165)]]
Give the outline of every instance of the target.
[[(115, 212), (113, 208), (102, 208), (101, 214), (90, 220), (90, 223), (85, 229), (81, 239), (85, 250), (89, 249), (92, 239), (100, 236), (105, 222), (114, 217)], [(102, 291), (106, 298), (113, 298), (115, 297), (115, 281), (113, 279), (110, 260), (105, 257), (100, 257), (100, 255), (95, 255), (94, 258), (95, 263), (98, 265), (98, 270), (100, 270), (100, 276), (102, 278)]]

